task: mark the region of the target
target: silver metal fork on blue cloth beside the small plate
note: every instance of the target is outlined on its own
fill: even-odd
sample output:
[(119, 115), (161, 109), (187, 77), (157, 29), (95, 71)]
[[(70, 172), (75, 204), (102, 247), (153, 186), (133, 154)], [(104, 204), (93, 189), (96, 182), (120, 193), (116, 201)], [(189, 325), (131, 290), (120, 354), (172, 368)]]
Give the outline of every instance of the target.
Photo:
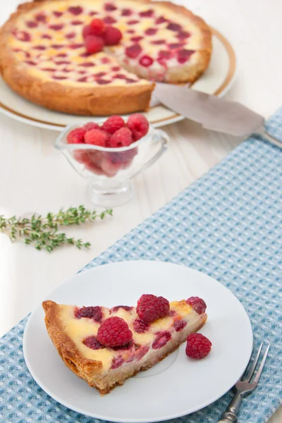
[(259, 378), (262, 374), (262, 370), (264, 369), (264, 364), (266, 362), (266, 357), (270, 347), (269, 343), (266, 343), (265, 353), (262, 357), (262, 360), (260, 361), (259, 369), (255, 374), (255, 369), (257, 367), (257, 363), (259, 362), (259, 356), (261, 355), (263, 345), (263, 342), (259, 345), (257, 355), (252, 361), (252, 355), (255, 353), (255, 344), (253, 345), (252, 355), (250, 361), (247, 364), (245, 372), (243, 373), (241, 379), (234, 386), (235, 396), (231, 403), (228, 405), (226, 412), (223, 412), (221, 420), (219, 420), (218, 423), (235, 423), (238, 421), (237, 415), (240, 409), (241, 402), (245, 396), (252, 393), (252, 391), (255, 391), (255, 388), (257, 388), (257, 384), (259, 382)]

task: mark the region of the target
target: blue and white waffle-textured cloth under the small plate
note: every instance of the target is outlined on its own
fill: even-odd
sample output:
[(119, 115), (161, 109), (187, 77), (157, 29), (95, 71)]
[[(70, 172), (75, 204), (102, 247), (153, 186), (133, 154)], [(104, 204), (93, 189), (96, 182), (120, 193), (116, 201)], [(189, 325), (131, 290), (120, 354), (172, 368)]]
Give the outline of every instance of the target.
[[(282, 140), (282, 108), (268, 130)], [(133, 259), (185, 264), (239, 298), (255, 339), (271, 343), (259, 387), (244, 401), (240, 422), (266, 422), (282, 398), (282, 149), (250, 137), (85, 269)], [(0, 339), (0, 421), (100, 423), (56, 403), (33, 381), (23, 359), (25, 323)], [(217, 422), (230, 399), (227, 393), (174, 423)]]

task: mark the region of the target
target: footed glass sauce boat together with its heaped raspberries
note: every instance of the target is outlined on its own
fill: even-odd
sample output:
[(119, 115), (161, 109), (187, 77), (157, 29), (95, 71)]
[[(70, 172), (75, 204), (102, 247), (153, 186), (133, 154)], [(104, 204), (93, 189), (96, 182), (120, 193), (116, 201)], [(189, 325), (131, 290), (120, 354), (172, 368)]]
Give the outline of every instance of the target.
[(142, 114), (111, 116), (104, 123), (69, 125), (55, 147), (88, 180), (93, 204), (115, 207), (130, 200), (132, 180), (166, 151), (169, 138)]

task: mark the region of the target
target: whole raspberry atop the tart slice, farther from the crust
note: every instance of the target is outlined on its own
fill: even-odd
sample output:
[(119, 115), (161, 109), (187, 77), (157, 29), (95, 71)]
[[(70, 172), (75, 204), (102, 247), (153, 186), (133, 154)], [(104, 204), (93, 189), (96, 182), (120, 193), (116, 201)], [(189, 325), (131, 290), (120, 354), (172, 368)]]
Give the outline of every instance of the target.
[(142, 321), (152, 321), (168, 316), (169, 302), (164, 297), (152, 294), (143, 294), (137, 301), (136, 312)]

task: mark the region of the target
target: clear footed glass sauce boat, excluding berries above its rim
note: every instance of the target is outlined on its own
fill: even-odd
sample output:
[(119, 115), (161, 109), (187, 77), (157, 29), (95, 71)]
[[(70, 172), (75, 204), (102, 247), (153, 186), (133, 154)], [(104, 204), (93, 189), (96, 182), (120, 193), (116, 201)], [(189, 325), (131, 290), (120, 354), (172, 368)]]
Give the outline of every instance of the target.
[(147, 135), (129, 147), (68, 144), (68, 133), (82, 126), (66, 127), (56, 139), (56, 149), (64, 154), (82, 178), (88, 180), (90, 202), (101, 207), (115, 207), (128, 202), (133, 194), (133, 178), (166, 151), (168, 135), (150, 125)]

